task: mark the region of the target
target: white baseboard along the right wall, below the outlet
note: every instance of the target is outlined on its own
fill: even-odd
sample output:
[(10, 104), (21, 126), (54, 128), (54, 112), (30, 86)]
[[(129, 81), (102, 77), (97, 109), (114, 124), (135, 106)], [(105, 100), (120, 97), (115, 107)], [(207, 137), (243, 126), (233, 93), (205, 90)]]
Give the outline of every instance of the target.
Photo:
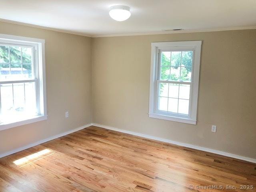
[(118, 129), (118, 128), (114, 128), (114, 127), (110, 127), (110, 126), (96, 124), (96, 123), (92, 123), (92, 125), (97, 126), (97, 127), (101, 127), (101, 128), (105, 128), (105, 129), (109, 129), (109, 130), (113, 130), (113, 131), (127, 133), (127, 134), (140, 136), (140, 137), (144, 137), (144, 138), (148, 138), (148, 139), (152, 139), (152, 140), (162, 141), (162, 142), (166, 142), (166, 143), (170, 143), (170, 144), (175, 144), (175, 145), (178, 145), (178, 146), (197, 149), (197, 150), (201, 150), (201, 151), (205, 151), (205, 152), (210, 152), (210, 153), (214, 153), (214, 154), (218, 154), (218, 155), (223, 155), (223, 156), (226, 156), (226, 157), (231, 157), (231, 158), (235, 158), (235, 159), (240, 159), (240, 160), (256, 163), (256, 159), (249, 158), (249, 157), (244, 157), (244, 156), (240, 156), (240, 155), (236, 155), (236, 154), (232, 154), (232, 153), (227, 153), (227, 152), (223, 152), (223, 151), (218, 151), (218, 150), (214, 150), (214, 149), (210, 149), (210, 148), (200, 147), (200, 146), (191, 145), (191, 144), (187, 144), (187, 143), (182, 143), (182, 142), (178, 142), (178, 141), (173, 141), (173, 140), (169, 140), (169, 139), (164, 139), (164, 138), (160, 138), (160, 137), (150, 136), (150, 135), (146, 135), (146, 134), (142, 134), (142, 133), (138, 133), (138, 132), (127, 131), (127, 130)]

